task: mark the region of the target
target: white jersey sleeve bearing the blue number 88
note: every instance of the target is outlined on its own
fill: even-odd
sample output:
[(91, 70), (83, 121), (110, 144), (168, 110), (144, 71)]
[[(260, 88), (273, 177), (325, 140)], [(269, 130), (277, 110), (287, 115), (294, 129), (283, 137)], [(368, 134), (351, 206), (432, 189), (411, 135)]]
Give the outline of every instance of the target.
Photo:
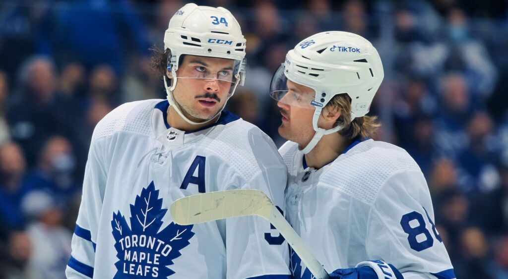
[(404, 170), (392, 175), (371, 208), (366, 237), (369, 258), (393, 264), (404, 278), (455, 278), (434, 220), (422, 172)]

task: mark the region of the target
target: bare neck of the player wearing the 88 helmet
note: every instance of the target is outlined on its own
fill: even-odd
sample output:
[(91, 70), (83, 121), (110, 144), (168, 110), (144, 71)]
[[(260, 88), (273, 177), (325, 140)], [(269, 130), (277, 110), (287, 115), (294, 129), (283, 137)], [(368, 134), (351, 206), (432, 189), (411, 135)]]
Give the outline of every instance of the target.
[(351, 140), (347, 140), (339, 133), (324, 135), (319, 143), (305, 154), (305, 162), (309, 167), (320, 169), (339, 157), (350, 144)]

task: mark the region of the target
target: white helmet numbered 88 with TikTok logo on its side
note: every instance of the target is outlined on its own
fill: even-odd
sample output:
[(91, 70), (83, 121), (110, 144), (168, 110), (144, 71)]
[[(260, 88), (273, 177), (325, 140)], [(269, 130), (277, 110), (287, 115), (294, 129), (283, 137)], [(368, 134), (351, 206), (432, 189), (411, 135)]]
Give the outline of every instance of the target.
[[(351, 97), (351, 118), (369, 112), (372, 99), (383, 81), (383, 64), (372, 44), (363, 37), (343, 31), (314, 34), (290, 50), (275, 72), (270, 95), (292, 106), (314, 109), (312, 126), (316, 131), (302, 150), (310, 152), (325, 134), (340, 130), (317, 127), (323, 107), (338, 94)], [(315, 94), (298, 102), (283, 98), (288, 93), (287, 80), (312, 88)]]

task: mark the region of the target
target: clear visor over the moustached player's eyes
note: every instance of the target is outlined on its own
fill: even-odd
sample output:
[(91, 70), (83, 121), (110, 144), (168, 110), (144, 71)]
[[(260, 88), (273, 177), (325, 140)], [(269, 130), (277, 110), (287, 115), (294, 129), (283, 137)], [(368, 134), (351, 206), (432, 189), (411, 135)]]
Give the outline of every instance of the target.
[(176, 71), (177, 79), (193, 79), (196, 82), (218, 86), (220, 90), (227, 89), (233, 94), (238, 84), (243, 85), (245, 79), (245, 59), (220, 59), (216, 63), (194, 56), (185, 65), (180, 65)]

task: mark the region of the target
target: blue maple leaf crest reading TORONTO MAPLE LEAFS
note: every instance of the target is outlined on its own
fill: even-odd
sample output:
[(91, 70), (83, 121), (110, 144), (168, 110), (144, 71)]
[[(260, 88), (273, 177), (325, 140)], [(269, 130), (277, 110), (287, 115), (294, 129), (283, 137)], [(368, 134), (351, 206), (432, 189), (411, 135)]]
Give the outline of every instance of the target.
[(181, 256), (180, 250), (194, 236), (193, 225), (180, 226), (173, 222), (159, 232), (162, 218), (168, 211), (162, 208), (153, 181), (141, 190), (131, 204), (131, 227), (118, 211), (113, 213), (111, 227), (115, 238), (116, 278), (166, 278), (175, 272), (168, 268)]

